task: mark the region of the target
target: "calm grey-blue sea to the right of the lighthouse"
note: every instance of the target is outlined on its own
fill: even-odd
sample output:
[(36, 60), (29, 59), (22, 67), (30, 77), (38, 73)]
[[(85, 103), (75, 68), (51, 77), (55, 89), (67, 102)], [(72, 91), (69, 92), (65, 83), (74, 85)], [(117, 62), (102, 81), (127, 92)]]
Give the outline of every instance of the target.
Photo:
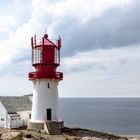
[(59, 104), (65, 126), (140, 134), (140, 98), (60, 98)]

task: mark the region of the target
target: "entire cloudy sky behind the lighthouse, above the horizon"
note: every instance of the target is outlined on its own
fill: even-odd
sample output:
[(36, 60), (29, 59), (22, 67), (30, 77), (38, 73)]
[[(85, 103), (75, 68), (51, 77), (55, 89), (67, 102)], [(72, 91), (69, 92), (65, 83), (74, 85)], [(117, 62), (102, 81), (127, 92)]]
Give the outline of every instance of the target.
[(0, 96), (32, 93), (30, 38), (62, 38), (60, 97), (140, 97), (139, 0), (0, 0)]

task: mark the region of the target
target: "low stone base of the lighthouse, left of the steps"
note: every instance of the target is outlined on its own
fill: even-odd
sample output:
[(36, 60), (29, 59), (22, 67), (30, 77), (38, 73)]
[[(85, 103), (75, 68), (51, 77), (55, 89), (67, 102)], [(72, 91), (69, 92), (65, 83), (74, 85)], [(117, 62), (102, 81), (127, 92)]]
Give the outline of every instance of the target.
[(28, 122), (28, 129), (29, 130), (44, 129), (44, 123), (43, 122)]

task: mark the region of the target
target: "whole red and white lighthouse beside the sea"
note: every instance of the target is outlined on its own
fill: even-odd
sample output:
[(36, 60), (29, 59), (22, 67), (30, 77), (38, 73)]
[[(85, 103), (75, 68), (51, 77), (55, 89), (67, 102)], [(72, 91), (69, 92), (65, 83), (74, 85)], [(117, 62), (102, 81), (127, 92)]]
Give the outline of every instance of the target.
[(29, 80), (33, 83), (33, 99), (28, 128), (45, 129), (46, 126), (47, 131), (51, 131), (52, 125), (62, 124), (58, 108), (58, 84), (63, 79), (63, 73), (57, 71), (60, 66), (61, 38), (52, 41), (48, 34), (44, 34), (38, 40), (35, 35), (31, 38), (31, 47), (35, 71), (29, 73)]

